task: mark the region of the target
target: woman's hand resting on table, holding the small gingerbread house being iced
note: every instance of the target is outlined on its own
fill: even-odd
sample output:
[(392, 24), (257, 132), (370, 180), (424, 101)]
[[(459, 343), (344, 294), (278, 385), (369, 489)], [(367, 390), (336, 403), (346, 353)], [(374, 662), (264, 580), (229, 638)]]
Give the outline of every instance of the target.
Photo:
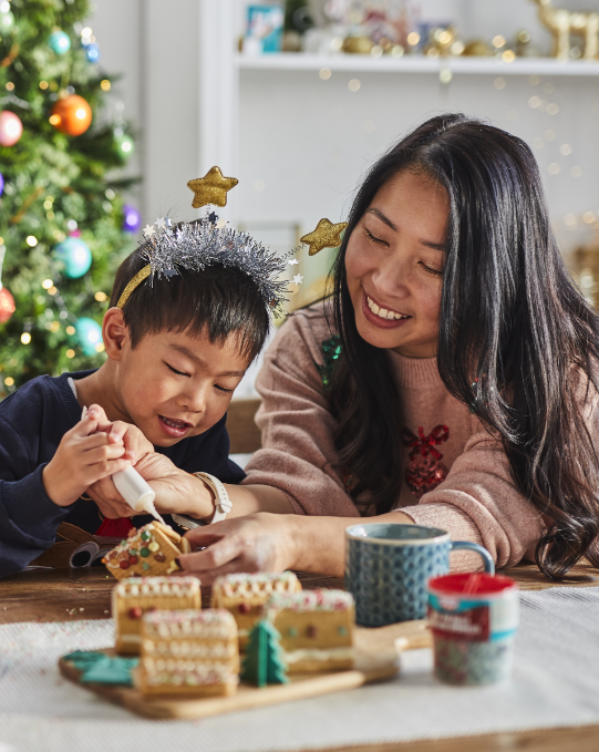
[(179, 556), (179, 564), (186, 574), (199, 577), (203, 585), (211, 585), (230, 571), (285, 571), (295, 560), (288, 528), (293, 517), (259, 512), (196, 527), (185, 537), (192, 547), (203, 550)]

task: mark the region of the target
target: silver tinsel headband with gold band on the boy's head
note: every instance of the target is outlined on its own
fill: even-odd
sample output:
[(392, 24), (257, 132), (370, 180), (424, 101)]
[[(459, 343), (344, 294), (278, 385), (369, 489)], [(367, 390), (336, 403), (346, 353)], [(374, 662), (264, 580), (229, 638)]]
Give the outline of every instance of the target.
[(161, 217), (153, 226), (144, 228), (146, 239), (141, 243), (141, 253), (148, 264), (128, 282), (123, 290), (117, 308), (123, 308), (131, 293), (141, 282), (151, 277), (174, 277), (179, 269), (203, 271), (206, 267), (220, 264), (235, 267), (250, 277), (258, 287), (265, 305), (275, 315), (282, 312), (287, 301), (285, 292), (289, 281), (279, 279), (293, 255), (280, 256), (247, 233), (239, 233), (217, 222), (211, 213), (208, 217), (194, 223), (175, 226), (167, 217)]

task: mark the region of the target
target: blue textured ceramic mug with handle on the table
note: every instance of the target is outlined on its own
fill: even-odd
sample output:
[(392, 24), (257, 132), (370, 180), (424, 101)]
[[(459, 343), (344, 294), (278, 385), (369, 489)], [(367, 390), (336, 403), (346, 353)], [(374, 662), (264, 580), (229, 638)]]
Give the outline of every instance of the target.
[(382, 627), (426, 617), (431, 577), (450, 571), (451, 550), (473, 550), (485, 571), (495, 574), (486, 548), (468, 540), (452, 543), (436, 527), (369, 523), (345, 529), (345, 589), (355, 599), (355, 621)]

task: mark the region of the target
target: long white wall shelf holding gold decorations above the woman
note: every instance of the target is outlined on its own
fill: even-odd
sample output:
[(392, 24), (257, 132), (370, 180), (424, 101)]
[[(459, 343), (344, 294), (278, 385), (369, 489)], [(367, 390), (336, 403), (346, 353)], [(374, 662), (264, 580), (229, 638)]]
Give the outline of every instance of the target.
[(256, 56), (237, 54), (235, 64), (246, 71), (320, 71), (328, 68), (332, 72), (438, 74), (448, 69), (454, 74), (599, 76), (599, 61), (571, 60), (564, 63), (552, 58), (517, 58), (506, 63), (496, 58), (371, 58), (360, 54), (281, 52)]

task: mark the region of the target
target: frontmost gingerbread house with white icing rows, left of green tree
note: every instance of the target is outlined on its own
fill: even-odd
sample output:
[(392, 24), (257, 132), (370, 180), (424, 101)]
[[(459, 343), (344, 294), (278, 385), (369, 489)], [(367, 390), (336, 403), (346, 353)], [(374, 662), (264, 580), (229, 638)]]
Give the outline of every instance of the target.
[(135, 679), (142, 694), (233, 694), (238, 674), (237, 625), (229, 611), (154, 611), (142, 619)]

